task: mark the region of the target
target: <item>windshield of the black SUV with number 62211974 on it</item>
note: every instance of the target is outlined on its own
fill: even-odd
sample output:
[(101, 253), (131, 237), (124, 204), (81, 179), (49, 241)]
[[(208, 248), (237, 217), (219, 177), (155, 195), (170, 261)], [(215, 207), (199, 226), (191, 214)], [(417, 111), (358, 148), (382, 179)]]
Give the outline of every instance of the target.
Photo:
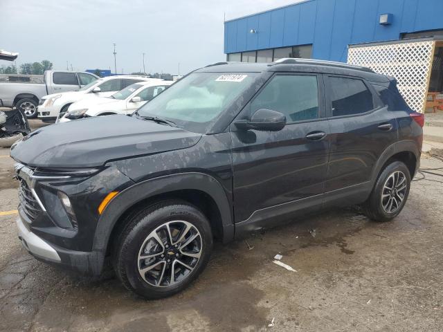
[(192, 73), (138, 109), (201, 132), (251, 85), (257, 73)]

